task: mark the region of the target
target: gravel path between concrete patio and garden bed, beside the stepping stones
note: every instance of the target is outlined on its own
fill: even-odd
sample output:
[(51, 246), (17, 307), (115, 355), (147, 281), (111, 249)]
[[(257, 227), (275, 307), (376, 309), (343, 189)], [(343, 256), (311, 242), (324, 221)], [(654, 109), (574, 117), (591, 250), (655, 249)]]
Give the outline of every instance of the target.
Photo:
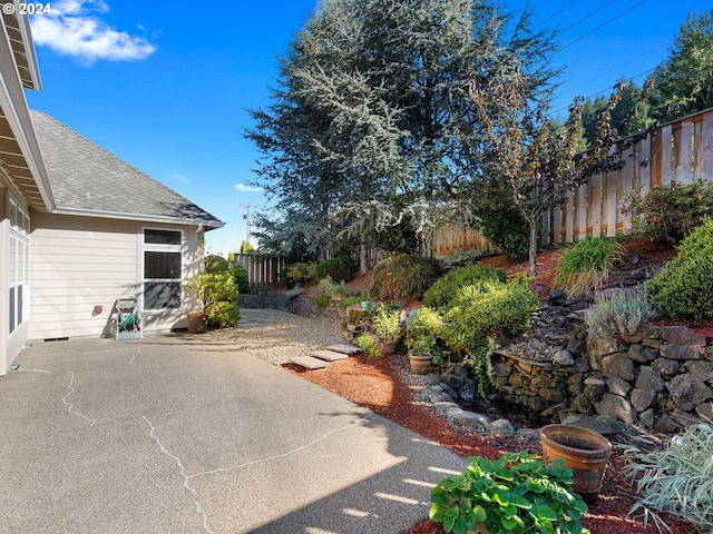
[(213, 330), (211, 335), (273, 365), (286, 364), (307, 350), (344, 343), (334, 320), (270, 308), (242, 308), (241, 316), (235, 328)]

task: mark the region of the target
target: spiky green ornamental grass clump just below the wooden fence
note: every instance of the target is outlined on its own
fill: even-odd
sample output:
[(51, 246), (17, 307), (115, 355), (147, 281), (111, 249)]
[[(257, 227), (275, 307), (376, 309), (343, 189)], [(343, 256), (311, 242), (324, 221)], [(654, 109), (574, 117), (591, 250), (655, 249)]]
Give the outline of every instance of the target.
[(570, 297), (602, 289), (622, 251), (615, 239), (587, 237), (573, 244), (557, 263), (553, 287), (565, 289)]

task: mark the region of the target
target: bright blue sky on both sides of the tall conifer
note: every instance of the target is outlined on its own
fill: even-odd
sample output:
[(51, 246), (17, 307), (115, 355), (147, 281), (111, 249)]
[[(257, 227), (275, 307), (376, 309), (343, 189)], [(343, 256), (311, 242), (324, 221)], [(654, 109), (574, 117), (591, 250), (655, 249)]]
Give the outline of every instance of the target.
[[(265, 205), (247, 182), (257, 152), (243, 138), (246, 109), (268, 105), (294, 32), (318, 0), (146, 2), (60, 0), (31, 17), (48, 112), (226, 222), (206, 235), (227, 255), (245, 239), (241, 205)], [(510, 0), (520, 12), (524, 0)], [(641, 85), (667, 56), (690, 12), (710, 0), (533, 0), (535, 20), (566, 29), (567, 66), (555, 110), (608, 95), (622, 77)], [(568, 29), (567, 29), (568, 28)], [(253, 210), (255, 208), (252, 208)]]

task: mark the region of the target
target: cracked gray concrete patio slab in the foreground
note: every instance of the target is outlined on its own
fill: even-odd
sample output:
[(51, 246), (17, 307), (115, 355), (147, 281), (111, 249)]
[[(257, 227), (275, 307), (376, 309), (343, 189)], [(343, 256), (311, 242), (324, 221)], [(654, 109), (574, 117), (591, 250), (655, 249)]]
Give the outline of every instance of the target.
[(0, 532), (398, 534), (465, 459), (219, 336), (40, 343), (0, 378)]

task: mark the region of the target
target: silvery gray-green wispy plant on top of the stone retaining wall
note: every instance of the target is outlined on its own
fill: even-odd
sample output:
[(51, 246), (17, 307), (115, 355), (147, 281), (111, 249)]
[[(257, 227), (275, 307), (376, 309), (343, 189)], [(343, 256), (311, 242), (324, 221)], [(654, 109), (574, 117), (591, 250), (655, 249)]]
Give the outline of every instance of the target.
[(589, 327), (589, 338), (594, 340), (632, 335), (653, 313), (651, 304), (641, 291), (622, 290), (611, 295), (597, 295), (594, 306), (585, 316), (585, 322)]

